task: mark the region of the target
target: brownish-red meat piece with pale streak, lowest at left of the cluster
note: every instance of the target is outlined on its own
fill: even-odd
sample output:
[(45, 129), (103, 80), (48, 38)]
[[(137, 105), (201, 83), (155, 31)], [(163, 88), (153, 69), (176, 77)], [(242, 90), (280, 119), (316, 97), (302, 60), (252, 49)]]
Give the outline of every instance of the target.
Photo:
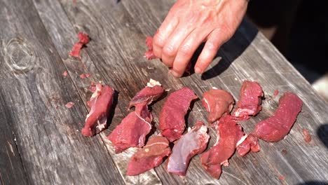
[(128, 164), (127, 175), (137, 175), (163, 163), (163, 158), (169, 156), (171, 149), (168, 139), (163, 136), (153, 136), (146, 146), (137, 151)]

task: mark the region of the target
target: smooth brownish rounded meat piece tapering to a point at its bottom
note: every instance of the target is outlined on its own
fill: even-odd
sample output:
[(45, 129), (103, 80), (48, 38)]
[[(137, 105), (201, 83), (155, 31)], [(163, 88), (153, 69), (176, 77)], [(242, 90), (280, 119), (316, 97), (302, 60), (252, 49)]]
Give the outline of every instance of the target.
[(203, 93), (203, 106), (210, 112), (208, 114), (208, 122), (218, 121), (221, 116), (230, 114), (233, 109), (233, 97), (226, 90), (211, 89)]

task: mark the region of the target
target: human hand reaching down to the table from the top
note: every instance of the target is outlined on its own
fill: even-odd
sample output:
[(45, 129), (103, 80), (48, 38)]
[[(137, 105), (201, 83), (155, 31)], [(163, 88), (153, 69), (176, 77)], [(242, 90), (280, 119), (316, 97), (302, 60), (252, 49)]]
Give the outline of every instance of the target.
[(184, 74), (198, 46), (206, 41), (195, 65), (202, 74), (219, 47), (233, 36), (247, 9), (247, 0), (177, 0), (153, 38), (153, 53)]

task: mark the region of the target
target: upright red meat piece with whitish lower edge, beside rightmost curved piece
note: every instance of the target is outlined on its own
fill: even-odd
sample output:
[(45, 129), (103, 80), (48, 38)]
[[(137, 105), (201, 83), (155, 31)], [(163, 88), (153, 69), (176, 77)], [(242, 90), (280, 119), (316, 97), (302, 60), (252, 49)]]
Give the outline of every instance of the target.
[(255, 116), (261, 111), (261, 98), (264, 96), (259, 83), (254, 81), (244, 81), (240, 89), (240, 100), (233, 112), (236, 120), (247, 120), (250, 116)]

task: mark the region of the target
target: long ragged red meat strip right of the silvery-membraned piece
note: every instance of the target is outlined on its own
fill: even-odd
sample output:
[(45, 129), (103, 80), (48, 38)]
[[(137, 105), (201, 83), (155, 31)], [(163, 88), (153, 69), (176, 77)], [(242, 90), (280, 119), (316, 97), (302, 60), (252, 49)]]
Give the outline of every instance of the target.
[(243, 138), (244, 132), (231, 116), (223, 116), (219, 124), (215, 126), (217, 130), (217, 143), (201, 157), (201, 163), (205, 171), (215, 179), (221, 176), (221, 165), (228, 166), (228, 158), (235, 152), (238, 141)]

